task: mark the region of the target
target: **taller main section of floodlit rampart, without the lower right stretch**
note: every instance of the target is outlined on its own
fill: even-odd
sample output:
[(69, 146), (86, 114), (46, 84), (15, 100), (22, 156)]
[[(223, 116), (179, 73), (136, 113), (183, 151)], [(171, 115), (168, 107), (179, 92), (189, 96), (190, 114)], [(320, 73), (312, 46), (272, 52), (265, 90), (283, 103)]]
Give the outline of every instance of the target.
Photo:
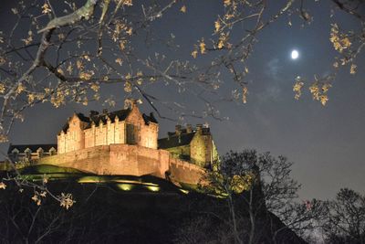
[(37, 164), (76, 168), (97, 175), (155, 175), (164, 178), (169, 153), (128, 144), (110, 144), (47, 156)]

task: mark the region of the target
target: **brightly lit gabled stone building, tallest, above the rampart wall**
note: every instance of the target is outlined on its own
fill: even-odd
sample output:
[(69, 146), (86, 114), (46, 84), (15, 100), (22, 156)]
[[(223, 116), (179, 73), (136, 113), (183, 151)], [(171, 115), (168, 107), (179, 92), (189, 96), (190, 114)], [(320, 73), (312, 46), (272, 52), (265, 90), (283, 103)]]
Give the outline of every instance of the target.
[(135, 102), (120, 111), (74, 113), (57, 135), (57, 152), (64, 154), (98, 145), (135, 144), (157, 149), (159, 125), (153, 114), (141, 114)]

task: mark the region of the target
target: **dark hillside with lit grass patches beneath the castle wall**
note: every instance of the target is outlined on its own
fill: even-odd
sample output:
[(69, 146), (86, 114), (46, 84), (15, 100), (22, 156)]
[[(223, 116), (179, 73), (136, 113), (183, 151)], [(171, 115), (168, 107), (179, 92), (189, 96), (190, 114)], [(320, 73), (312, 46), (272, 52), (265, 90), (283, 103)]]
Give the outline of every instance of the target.
[[(153, 176), (97, 176), (71, 169), (37, 167), (25, 177), (40, 180), (50, 174), (48, 188), (55, 195), (72, 193), (76, 203), (68, 210), (51, 197), (40, 207), (34, 191), (7, 183), (0, 192), (2, 243), (230, 243), (224, 199), (187, 192)], [(241, 219), (245, 222), (246, 217)], [(273, 228), (283, 224), (270, 213), (257, 223), (259, 243), (271, 243)], [(243, 225), (242, 235), (247, 228)], [(305, 243), (290, 230), (278, 243)]]

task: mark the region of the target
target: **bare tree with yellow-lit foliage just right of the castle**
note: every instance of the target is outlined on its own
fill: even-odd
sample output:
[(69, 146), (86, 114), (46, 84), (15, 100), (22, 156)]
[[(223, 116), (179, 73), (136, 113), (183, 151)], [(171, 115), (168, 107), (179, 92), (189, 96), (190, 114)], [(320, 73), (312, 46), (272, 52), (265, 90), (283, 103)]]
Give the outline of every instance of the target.
[(227, 202), (235, 243), (260, 243), (265, 235), (271, 237), (266, 241), (289, 243), (290, 229), (303, 234), (313, 228), (312, 220), (323, 214), (324, 206), (316, 200), (297, 203), (300, 185), (290, 176), (291, 165), (284, 156), (230, 152), (203, 177), (203, 191)]

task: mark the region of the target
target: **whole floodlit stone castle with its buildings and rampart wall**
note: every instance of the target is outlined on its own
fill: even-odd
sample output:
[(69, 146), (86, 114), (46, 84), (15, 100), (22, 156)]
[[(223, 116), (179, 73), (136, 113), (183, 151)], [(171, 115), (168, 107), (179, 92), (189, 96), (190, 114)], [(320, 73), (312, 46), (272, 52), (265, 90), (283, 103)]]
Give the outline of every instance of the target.
[(207, 126), (176, 125), (175, 132), (162, 139), (158, 133), (153, 113), (141, 113), (137, 102), (130, 101), (120, 111), (90, 111), (89, 117), (75, 112), (57, 134), (57, 145), (11, 144), (8, 157), (96, 175), (154, 175), (192, 185), (218, 160)]

